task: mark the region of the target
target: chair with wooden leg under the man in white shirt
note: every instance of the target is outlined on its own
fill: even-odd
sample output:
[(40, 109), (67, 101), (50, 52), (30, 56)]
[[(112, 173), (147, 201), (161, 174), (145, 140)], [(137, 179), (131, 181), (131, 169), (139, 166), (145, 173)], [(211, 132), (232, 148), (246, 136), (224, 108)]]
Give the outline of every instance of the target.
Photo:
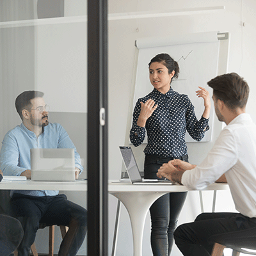
[(239, 256), (240, 253), (256, 255), (256, 252), (246, 250), (256, 250), (256, 227), (228, 234), (214, 235), (210, 237), (209, 241), (214, 242), (211, 256), (222, 256), (225, 248), (233, 250), (232, 256)]

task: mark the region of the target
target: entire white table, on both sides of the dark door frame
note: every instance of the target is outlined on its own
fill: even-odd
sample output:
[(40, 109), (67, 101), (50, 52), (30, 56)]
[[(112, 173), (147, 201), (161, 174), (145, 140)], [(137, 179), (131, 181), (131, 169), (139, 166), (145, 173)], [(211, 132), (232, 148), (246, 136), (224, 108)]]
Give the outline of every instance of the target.
[[(87, 191), (87, 180), (75, 182), (38, 182), (32, 180), (0, 182), (0, 189)], [(228, 184), (214, 183), (204, 190), (228, 189)], [(148, 209), (160, 196), (170, 192), (188, 191), (186, 186), (170, 184), (133, 185), (113, 183), (109, 180), (108, 192), (116, 196), (129, 212), (134, 244), (134, 256), (142, 254), (142, 238)]]

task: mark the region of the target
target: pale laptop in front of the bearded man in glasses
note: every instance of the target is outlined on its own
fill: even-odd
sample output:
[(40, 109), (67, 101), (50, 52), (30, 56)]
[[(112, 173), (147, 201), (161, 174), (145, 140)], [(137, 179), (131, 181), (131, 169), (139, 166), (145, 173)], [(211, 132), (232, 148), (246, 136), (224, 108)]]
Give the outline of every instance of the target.
[(74, 148), (31, 148), (31, 180), (75, 181)]

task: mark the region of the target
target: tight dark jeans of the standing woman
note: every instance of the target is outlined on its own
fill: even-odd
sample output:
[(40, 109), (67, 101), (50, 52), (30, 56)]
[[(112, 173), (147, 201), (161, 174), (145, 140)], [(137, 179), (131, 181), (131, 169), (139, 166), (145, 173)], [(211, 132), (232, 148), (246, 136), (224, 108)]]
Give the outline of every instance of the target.
[[(172, 158), (146, 156), (144, 164), (145, 179), (159, 179), (157, 170), (163, 163)], [(184, 157), (188, 161), (188, 157)], [(173, 246), (173, 232), (186, 200), (187, 192), (168, 193), (161, 196), (150, 207), (151, 216), (151, 248), (154, 256), (168, 256)]]

